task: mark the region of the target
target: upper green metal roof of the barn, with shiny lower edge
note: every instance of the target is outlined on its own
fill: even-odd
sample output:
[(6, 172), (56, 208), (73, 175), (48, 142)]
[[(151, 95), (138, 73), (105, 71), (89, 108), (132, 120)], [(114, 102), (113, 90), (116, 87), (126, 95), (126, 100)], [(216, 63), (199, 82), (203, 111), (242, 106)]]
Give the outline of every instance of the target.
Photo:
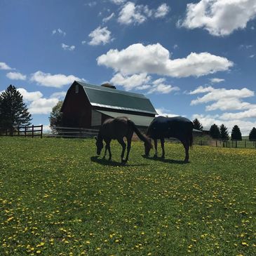
[(76, 81), (76, 83), (83, 86), (92, 106), (157, 114), (150, 100), (142, 94), (94, 86), (80, 81)]

